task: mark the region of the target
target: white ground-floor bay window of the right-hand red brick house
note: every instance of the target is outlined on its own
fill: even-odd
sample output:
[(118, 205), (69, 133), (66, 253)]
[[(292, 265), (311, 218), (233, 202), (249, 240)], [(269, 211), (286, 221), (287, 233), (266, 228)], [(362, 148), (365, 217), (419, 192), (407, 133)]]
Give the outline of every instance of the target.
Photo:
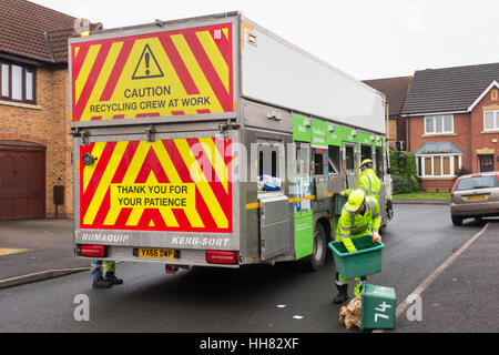
[(461, 155), (416, 155), (418, 178), (455, 178), (461, 168)]

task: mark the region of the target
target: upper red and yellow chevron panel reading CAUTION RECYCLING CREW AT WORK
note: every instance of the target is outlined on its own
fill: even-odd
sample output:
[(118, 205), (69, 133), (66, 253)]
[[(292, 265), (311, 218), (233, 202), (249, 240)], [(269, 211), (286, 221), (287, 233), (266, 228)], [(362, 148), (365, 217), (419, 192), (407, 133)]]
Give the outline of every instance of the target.
[(232, 23), (72, 44), (72, 120), (232, 112)]

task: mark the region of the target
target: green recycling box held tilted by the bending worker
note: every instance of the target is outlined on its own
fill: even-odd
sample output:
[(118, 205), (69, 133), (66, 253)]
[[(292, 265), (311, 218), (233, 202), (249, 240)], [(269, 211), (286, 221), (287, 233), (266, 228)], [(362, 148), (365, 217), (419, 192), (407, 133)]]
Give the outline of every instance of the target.
[(356, 251), (349, 253), (342, 241), (330, 242), (336, 272), (345, 280), (360, 277), (381, 272), (381, 250), (385, 244), (376, 241), (373, 243), (370, 234), (352, 239)]

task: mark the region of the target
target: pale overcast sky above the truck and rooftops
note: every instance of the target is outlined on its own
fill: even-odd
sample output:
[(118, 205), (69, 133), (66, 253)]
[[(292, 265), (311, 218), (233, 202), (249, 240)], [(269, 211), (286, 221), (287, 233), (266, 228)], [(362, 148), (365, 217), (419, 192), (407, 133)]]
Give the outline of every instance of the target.
[(32, 0), (115, 28), (242, 11), (359, 80), (499, 62), (499, 0)]

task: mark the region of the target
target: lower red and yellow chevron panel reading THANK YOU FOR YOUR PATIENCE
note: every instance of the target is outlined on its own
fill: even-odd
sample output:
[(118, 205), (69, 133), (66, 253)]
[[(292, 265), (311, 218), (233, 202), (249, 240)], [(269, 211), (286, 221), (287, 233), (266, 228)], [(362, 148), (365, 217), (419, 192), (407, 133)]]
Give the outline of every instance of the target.
[(216, 138), (80, 146), (82, 229), (232, 232), (232, 152)]

